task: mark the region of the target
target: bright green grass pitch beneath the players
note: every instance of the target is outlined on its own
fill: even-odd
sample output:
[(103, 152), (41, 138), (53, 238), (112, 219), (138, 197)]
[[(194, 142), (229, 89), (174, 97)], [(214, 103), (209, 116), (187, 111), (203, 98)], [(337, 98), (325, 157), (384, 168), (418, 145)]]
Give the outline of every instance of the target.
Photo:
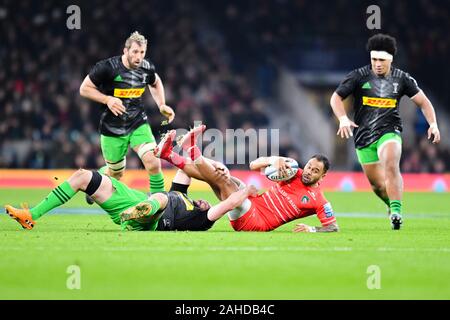
[[(47, 193), (0, 189), (0, 202), (32, 206)], [(0, 214), (0, 299), (450, 299), (445, 193), (405, 194), (401, 231), (372, 193), (327, 193), (333, 234), (294, 234), (296, 222), (234, 232), (226, 218), (207, 232), (122, 232), (106, 214), (69, 214), (86, 208), (83, 196), (32, 231)], [(70, 265), (79, 290), (67, 288)], [(371, 265), (380, 289), (367, 286)]]

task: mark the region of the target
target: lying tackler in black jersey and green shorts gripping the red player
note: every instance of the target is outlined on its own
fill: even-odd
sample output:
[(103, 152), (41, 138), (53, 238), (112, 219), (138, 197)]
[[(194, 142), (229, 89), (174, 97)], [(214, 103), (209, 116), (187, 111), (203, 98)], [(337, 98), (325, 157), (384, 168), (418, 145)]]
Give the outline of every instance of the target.
[[(190, 140), (191, 134), (193, 131), (187, 133), (184, 138)], [(165, 143), (165, 139), (162, 143)], [(208, 160), (208, 163), (214, 168), (217, 181), (229, 178), (229, 171), (224, 165), (213, 160)], [(193, 201), (187, 196), (191, 177), (199, 180), (205, 178), (192, 161), (183, 159), (183, 164), (184, 171), (177, 172), (169, 192), (148, 196), (144, 192), (129, 188), (115, 178), (96, 171), (80, 169), (53, 189), (37, 206), (31, 209), (17, 209), (6, 205), (6, 213), (23, 228), (32, 229), (36, 224), (35, 220), (69, 201), (78, 191), (82, 191), (91, 196), (110, 215), (114, 223), (121, 224), (122, 229), (201, 231), (211, 228), (216, 220), (241, 205), (248, 196), (256, 192), (251, 186), (236, 190), (224, 201), (212, 207), (205, 200)], [(222, 185), (230, 183), (224, 181)], [(213, 190), (218, 192), (217, 189)]]

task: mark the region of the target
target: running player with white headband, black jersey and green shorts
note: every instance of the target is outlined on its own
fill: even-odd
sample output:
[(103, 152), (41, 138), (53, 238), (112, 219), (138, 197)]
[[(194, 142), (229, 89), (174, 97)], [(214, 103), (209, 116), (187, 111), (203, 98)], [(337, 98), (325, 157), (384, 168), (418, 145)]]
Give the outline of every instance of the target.
[[(388, 206), (392, 228), (402, 224), (403, 180), (400, 174), (402, 122), (398, 107), (407, 95), (417, 104), (428, 124), (428, 139), (440, 141), (436, 114), (430, 100), (408, 73), (392, 66), (397, 52), (395, 38), (376, 34), (367, 42), (371, 65), (355, 69), (340, 83), (331, 97), (339, 119), (337, 134), (355, 136), (358, 160), (373, 191)], [(343, 100), (354, 96), (354, 122), (345, 112)], [(354, 132), (352, 132), (352, 129)]]

